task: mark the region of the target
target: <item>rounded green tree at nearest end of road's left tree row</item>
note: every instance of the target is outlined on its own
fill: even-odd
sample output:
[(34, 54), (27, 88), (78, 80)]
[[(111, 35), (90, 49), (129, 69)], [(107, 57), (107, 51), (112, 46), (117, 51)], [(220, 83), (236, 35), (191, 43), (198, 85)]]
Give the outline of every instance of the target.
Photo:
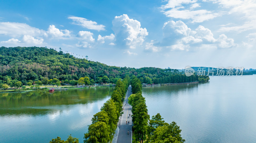
[(105, 122), (96, 122), (88, 128), (88, 132), (84, 134), (84, 143), (108, 143), (109, 126)]

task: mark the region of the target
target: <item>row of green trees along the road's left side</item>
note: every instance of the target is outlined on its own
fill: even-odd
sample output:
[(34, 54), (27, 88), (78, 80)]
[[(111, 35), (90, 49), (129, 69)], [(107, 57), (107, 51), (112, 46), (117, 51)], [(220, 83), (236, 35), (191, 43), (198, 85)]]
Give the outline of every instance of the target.
[(92, 124), (84, 134), (84, 143), (108, 143), (113, 139), (129, 83), (129, 76), (126, 76), (123, 81), (116, 82), (111, 98), (104, 103), (100, 112), (93, 115)]

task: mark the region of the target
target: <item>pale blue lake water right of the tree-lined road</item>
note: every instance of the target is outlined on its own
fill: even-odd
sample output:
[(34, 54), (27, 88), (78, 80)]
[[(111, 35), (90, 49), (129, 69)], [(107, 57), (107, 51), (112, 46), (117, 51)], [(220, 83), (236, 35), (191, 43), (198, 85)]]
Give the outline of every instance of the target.
[(175, 121), (188, 143), (256, 142), (256, 75), (210, 76), (204, 84), (143, 87), (148, 114)]

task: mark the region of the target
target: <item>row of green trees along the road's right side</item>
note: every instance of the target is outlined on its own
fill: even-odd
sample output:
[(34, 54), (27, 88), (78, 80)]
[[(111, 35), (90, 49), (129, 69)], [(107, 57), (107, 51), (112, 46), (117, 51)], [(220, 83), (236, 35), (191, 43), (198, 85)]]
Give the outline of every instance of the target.
[(165, 123), (161, 115), (149, 118), (146, 100), (142, 96), (141, 81), (133, 76), (131, 80), (132, 95), (128, 98), (128, 103), (132, 105), (132, 122), (134, 136), (136, 142), (143, 143), (183, 143), (180, 135), (180, 127), (173, 121), (168, 124)]

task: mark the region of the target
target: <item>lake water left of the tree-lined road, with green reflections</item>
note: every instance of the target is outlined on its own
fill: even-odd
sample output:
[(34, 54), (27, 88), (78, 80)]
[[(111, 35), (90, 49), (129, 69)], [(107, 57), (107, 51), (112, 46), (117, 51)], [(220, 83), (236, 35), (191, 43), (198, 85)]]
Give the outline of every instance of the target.
[(93, 115), (110, 98), (113, 87), (0, 93), (0, 142), (49, 143), (68, 135), (83, 142)]

